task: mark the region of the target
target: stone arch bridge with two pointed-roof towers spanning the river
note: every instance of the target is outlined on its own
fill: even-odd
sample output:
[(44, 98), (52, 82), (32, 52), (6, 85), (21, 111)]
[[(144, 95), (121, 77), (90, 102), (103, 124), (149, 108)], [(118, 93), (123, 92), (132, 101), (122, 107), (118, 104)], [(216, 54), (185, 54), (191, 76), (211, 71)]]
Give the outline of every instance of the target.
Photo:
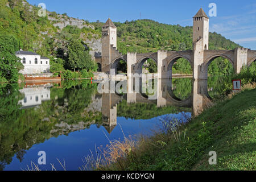
[(102, 56), (95, 60), (105, 73), (111, 70), (117, 73), (120, 60), (127, 63), (127, 76), (134, 73), (141, 74), (142, 66), (146, 60), (152, 59), (158, 65), (158, 78), (171, 78), (172, 66), (180, 59), (186, 59), (192, 67), (195, 80), (208, 78), (209, 64), (217, 57), (228, 59), (234, 71), (240, 73), (243, 65), (250, 66), (256, 60), (256, 51), (247, 48), (234, 50), (208, 50), (209, 47), (209, 18), (200, 9), (193, 17), (193, 50), (189, 51), (158, 51), (149, 53), (131, 53), (122, 55), (117, 50), (117, 27), (108, 19), (102, 27)]

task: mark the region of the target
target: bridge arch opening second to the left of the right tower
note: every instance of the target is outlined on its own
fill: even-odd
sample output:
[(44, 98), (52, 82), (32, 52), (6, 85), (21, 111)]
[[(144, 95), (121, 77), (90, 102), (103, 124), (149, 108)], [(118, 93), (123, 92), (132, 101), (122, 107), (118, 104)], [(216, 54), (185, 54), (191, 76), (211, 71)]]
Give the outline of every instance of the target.
[(158, 64), (154, 59), (150, 57), (145, 57), (142, 59), (137, 67), (138, 73), (157, 73), (158, 72)]

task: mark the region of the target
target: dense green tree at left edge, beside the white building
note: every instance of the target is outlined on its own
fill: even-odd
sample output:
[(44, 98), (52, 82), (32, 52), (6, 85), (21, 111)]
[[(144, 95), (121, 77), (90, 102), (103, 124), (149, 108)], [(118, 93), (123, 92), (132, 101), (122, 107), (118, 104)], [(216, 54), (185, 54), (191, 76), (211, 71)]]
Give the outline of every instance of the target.
[(11, 82), (18, 81), (18, 74), (24, 68), (15, 52), (19, 50), (18, 41), (13, 36), (0, 36), (0, 77)]

